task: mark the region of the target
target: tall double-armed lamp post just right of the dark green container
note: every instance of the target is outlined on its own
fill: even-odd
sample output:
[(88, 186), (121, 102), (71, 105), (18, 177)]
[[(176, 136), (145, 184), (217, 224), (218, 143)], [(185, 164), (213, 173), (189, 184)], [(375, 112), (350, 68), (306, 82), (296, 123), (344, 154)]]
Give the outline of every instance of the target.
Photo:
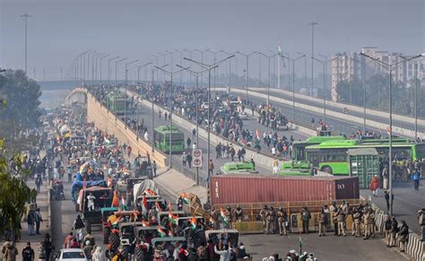
[(389, 198), (391, 200), (391, 204), (390, 204), (390, 215), (393, 215), (393, 86), (391, 84), (392, 79), (393, 79), (393, 68), (395, 66), (398, 66), (404, 62), (409, 62), (413, 59), (416, 59), (418, 57), (423, 57), (423, 54), (421, 55), (417, 55), (415, 57), (411, 57), (409, 59), (403, 60), (401, 62), (395, 63), (395, 64), (388, 64), (384, 61), (381, 61), (375, 57), (369, 57), (367, 54), (364, 53), (360, 53), (360, 56), (363, 57), (368, 57), (370, 60), (376, 62), (378, 65), (381, 65), (382, 67), (384, 67), (386, 70), (388, 70), (389, 73), (389, 79), (388, 79), (388, 91), (389, 91), (389, 98), (388, 98), (388, 107), (389, 107), (389, 129), (388, 129), (388, 133), (389, 133), (389, 148), (388, 148), (388, 174), (389, 174)]

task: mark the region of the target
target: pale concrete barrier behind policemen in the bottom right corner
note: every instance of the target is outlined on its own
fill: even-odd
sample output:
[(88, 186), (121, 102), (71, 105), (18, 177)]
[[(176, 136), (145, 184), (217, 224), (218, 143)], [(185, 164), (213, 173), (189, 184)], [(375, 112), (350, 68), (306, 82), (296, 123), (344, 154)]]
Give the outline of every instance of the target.
[[(385, 223), (387, 215), (388, 214), (386, 212), (378, 208), (375, 209), (375, 225), (377, 227), (377, 231), (381, 233), (385, 233)], [(397, 246), (400, 248), (400, 242), (397, 244)], [(407, 242), (406, 252), (410, 257), (413, 257), (415, 260), (425, 261), (425, 242), (422, 242), (420, 237), (412, 231), (410, 231), (409, 233), (409, 240)]]

